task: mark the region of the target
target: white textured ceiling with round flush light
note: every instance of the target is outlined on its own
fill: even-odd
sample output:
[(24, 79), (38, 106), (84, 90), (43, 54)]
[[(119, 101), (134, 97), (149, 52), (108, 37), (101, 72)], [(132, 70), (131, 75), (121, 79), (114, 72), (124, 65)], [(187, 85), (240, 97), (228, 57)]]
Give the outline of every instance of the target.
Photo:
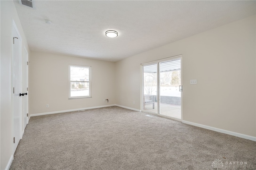
[(255, 2), (35, 0), (33, 9), (14, 1), (30, 50), (106, 61), (251, 16)]

